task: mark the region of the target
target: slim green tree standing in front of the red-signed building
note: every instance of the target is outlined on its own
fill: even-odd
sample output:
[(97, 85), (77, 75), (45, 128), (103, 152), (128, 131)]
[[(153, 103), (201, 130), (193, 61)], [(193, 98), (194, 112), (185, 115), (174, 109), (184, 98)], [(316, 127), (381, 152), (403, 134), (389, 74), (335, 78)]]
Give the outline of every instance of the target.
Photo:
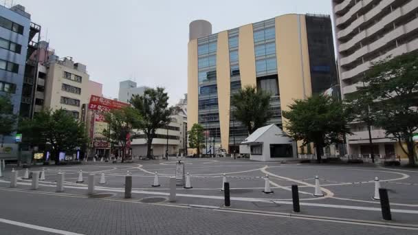
[(103, 131), (103, 135), (109, 137), (113, 144), (118, 144), (122, 148), (122, 162), (124, 162), (126, 144), (131, 140), (129, 134), (133, 136), (133, 129), (140, 128), (142, 117), (136, 109), (124, 107), (104, 113), (104, 120), (109, 123), (109, 128)]

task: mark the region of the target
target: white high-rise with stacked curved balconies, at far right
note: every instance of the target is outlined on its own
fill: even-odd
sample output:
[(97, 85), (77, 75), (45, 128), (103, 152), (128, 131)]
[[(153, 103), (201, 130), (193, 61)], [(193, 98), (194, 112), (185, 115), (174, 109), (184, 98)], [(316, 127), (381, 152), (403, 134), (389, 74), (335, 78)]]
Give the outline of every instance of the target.
[[(418, 49), (417, 0), (332, 0), (342, 96), (364, 84), (362, 78), (373, 62)], [(373, 152), (404, 155), (384, 130), (371, 127)], [(364, 123), (351, 124), (349, 153), (370, 154)]]

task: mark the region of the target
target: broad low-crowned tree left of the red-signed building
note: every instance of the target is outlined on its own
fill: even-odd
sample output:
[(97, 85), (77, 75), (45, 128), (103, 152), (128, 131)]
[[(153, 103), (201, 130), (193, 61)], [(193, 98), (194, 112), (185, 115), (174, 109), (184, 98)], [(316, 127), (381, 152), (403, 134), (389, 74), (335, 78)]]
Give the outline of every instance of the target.
[(56, 164), (59, 164), (60, 152), (74, 152), (88, 142), (84, 123), (64, 109), (41, 111), (33, 120), (22, 120), (19, 131), (25, 142), (49, 145)]

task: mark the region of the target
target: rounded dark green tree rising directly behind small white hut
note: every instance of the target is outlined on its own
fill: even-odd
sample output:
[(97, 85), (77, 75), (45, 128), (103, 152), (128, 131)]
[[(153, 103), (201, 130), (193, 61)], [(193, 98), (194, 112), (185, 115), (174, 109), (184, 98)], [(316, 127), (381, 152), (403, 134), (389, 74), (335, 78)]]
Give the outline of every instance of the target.
[(232, 96), (231, 102), (234, 117), (247, 127), (249, 135), (272, 117), (270, 94), (256, 87), (244, 87)]

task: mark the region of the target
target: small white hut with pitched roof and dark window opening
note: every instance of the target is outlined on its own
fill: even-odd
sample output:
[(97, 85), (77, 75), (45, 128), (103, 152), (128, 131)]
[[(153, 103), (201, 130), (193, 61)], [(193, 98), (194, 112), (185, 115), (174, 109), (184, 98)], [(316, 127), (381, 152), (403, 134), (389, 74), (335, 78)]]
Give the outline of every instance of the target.
[(242, 150), (249, 150), (250, 159), (255, 161), (283, 161), (297, 158), (296, 142), (285, 136), (275, 124), (263, 126), (240, 144)]

